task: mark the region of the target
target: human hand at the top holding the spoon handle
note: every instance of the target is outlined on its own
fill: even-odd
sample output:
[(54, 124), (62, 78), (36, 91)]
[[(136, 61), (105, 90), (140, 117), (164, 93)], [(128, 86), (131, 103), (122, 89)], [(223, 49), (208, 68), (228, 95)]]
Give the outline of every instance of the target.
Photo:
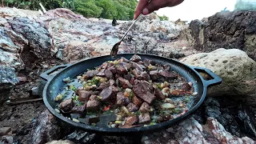
[(184, 0), (139, 0), (138, 5), (135, 9), (134, 19), (138, 18), (139, 14), (150, 14), (154, 10), (159, 10), (160, 8), (167, 6), (177, 6), (182, 3)]

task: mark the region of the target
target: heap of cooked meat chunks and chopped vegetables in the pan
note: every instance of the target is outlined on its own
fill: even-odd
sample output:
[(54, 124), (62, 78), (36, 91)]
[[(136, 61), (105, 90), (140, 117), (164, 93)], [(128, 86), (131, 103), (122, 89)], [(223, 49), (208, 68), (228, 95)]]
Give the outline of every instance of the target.
[(85, 71), (63, 79), (65, 90), (55, 98), (55, 110), (75, 122), (111, 128), (156, 125), (185, 114), (194, 101), (192, 82), (170, 65), (137, 54)]

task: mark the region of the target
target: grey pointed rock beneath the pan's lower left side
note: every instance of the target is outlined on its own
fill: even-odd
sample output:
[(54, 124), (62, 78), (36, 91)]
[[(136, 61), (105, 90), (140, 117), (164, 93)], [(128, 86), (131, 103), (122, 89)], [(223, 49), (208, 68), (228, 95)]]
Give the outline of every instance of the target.
[(46, 143), (60, 138), (61, 128), (57, 119), (48, 110), (35, 118), (30, 132), (30, 143)]

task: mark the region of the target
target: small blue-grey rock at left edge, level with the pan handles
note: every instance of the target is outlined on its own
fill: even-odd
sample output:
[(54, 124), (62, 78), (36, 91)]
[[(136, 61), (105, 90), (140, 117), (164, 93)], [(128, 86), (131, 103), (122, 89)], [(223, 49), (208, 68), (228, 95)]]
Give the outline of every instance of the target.
[(17, 82), (14, 68), (0, 66), (0, 105), (9, 97), (10, 90)]

